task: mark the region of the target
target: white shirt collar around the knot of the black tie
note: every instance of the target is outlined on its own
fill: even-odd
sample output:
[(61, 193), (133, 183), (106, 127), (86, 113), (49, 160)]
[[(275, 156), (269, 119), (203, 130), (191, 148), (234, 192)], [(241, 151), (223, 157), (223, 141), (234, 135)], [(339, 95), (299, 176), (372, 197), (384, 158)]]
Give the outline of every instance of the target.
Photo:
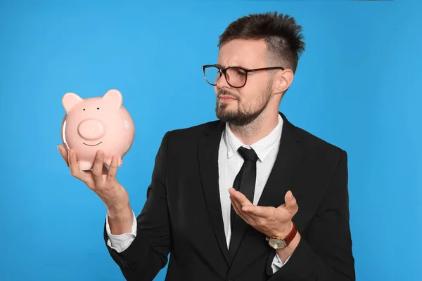
[(274, 148), (276, 143), (279, 142), (281, 138), (281, 130), (283, 128), (283, 118), (279, 115), (279, 122), (277, 126), (264, 138), (260, 139), (252, 145), (243, 144), (234, 133), (231, 131), (229, 123), (226, 123), (226, 128), (224, 129), (224, 143), (227, 148), (227, 158), (234, 156), (238, 148), (243, 146), (244, 148), (252, 148), (257, 153), (258, 158), (261, 161), (264, 161), (265, 157), (269, 155), (269, 152)]

